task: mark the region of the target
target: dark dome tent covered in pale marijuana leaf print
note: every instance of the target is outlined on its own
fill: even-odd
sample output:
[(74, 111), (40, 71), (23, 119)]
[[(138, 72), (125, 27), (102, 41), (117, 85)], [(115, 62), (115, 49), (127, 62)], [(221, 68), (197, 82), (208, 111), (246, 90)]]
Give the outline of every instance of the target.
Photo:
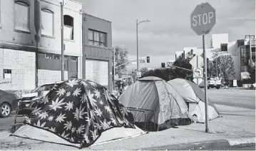
[(58, 83), (36, 103), (14, 136), (88, 147), (143, 134), (128, 110), (102, 85), (73, 79)]

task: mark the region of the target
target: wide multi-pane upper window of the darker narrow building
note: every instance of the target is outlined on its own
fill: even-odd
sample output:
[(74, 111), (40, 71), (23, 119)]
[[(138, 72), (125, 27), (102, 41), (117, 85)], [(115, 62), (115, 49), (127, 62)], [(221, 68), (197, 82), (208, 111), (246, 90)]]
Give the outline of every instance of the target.
[(89, 29), (88, 33), (89, 45), (106, 47), (106, 33), (93, 31)]

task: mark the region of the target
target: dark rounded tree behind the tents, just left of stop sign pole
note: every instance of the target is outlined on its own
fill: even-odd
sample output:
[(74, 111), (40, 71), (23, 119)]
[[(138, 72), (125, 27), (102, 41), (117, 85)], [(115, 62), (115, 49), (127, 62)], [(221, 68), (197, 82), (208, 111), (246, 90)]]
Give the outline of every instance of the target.
[[(182, 58), (181, 56), (173, 63), (173, 66), (178, 66), (181, 68), (187, 68), (189, 70), (192, 70), (192, 66), (190, 64), (190, 58)], [(177, 78), (186, 78), (188, 75), (192, 75), (192, 71), (187, 71), (181, 68), (176, 68), (175, 73), (177, 75)]]

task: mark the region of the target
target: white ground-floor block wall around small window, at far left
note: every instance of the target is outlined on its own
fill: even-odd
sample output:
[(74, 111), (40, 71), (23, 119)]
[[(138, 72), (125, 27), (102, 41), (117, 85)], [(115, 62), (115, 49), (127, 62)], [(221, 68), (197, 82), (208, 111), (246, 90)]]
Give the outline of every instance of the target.
[(0, 85), (1, 90), (34, 90), (35, 53), (0, 48), (0, 80), (4, 69), (11, 70), (11, 85)]

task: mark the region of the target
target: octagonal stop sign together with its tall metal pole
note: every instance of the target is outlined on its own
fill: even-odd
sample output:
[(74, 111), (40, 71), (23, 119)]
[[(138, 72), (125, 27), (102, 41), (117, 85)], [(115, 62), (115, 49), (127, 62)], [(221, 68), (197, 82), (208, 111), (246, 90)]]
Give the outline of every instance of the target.
[(190, 25), (193, 31), (198, 36), (203, 36), (203, 60), (204, 60), (204, 82), (205, 82), (205, 132), (209, 132), (208, 129), (208, 83), (207, 83), (207, 58), (205, 51), (205, 35), (210, 33), (210, 30), (216, 23), (215, 9), (209, 3), (199, 4), (195, 7), (194, 11), (190, 15)]

